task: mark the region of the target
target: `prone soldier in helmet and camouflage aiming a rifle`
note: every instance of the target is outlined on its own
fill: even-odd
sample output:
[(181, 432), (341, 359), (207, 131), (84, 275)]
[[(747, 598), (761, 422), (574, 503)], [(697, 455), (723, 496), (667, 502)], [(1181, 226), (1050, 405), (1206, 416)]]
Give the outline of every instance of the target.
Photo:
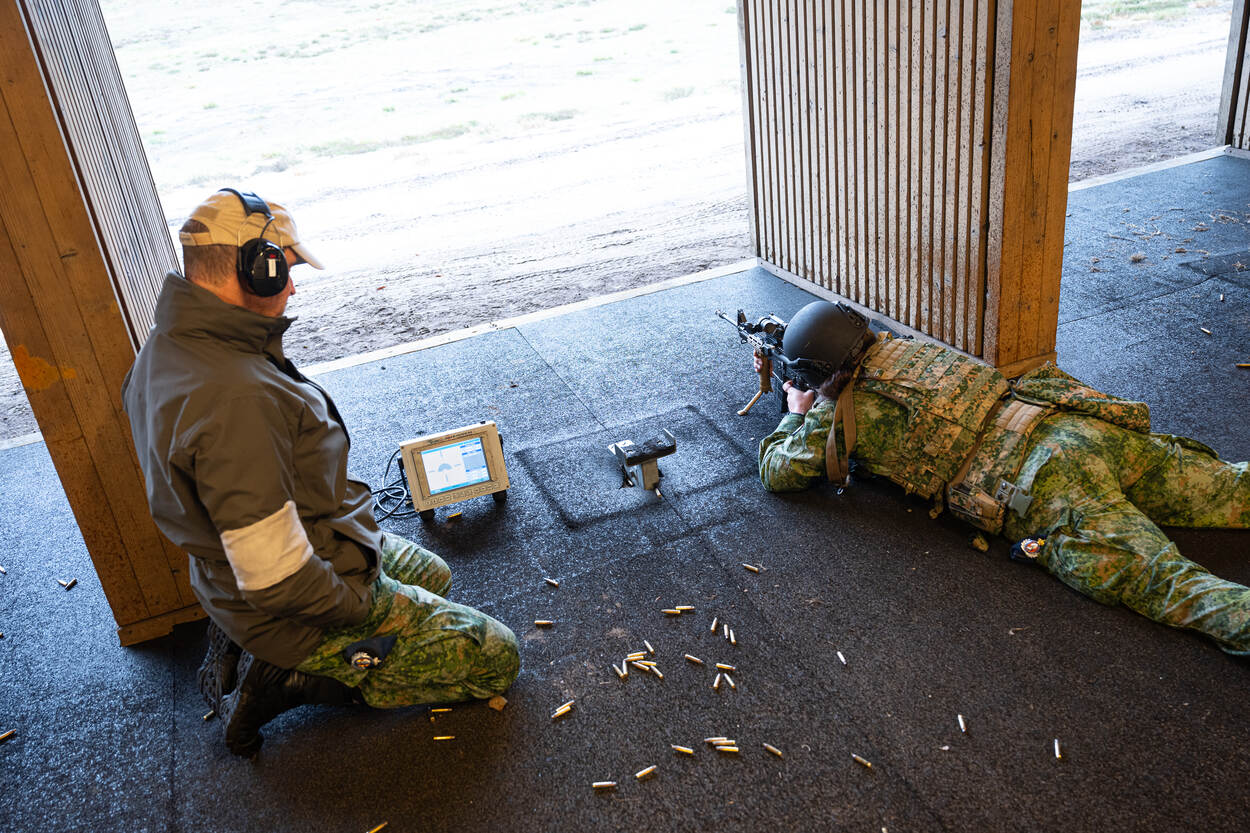
[[(850, 458), (909, 493), (1014, 542), (1104, 604), (1206, 634), (1250, 654), (1250, 588), (1181, 555), (1159, 524), (1250, 525), (1246, 463), (1152, 433), (1144, 403), (1111, 396), (1054, 364), (1019, 379), (935, 344), (878, 336), (842, 304), (814, 301), (782, 331), (786, 360), (834, 368), (804, 389), (759, 447), (770, 492), (849, 483)], [(760, 373), (764, 359), (755, 356)]]

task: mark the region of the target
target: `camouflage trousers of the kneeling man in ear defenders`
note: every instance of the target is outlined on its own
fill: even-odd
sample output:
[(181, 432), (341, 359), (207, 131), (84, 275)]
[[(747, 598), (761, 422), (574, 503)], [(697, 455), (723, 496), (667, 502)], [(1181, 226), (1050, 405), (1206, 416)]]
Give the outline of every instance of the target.
[[(451, 570), (428, 549), (388, 533), (372, 608), (360, 625), (328, 630), (296, 670), (332, 677), (360, 689), (369, 705), (395, 708), (494, 697), (520, 669), (516, 637), (485, 613), (442, 595)], [(361, 670), (344, 649), (395, 634), (381, 665)]]

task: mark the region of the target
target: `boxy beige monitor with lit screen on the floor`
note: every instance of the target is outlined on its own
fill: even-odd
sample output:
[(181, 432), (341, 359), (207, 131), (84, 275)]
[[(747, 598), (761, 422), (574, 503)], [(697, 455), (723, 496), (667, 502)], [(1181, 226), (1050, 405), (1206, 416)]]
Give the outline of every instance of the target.
[(428, 434), (399, 444), (412, 508), (432, 520), (438, 507), (492, 495), (508, 499), (504, 442), (492, 422)]

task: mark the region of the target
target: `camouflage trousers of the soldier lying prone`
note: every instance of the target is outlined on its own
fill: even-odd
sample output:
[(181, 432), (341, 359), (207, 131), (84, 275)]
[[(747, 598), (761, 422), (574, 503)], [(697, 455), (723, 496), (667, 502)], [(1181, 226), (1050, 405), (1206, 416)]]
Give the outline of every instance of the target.
[(1085, 595), (1250, 654), (1250, 588), (1189, 560), (1156, 525), (1250, 527), (1246, 465), (1185, 438), (1052, 416), (1019, 478), (1032, 478), (1032, 503), (1008, 513), (1004, 534), (1045, 537), (1038, 563)]

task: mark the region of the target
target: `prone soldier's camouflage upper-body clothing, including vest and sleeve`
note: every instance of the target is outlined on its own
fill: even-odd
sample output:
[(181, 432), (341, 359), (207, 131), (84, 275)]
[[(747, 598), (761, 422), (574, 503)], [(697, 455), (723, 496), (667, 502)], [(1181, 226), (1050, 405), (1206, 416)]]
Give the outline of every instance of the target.
[[(1029, 435), (1050, 414), (1080, 413), (1150, 430), (1144, 403), (1094, 390), (1052, 364), (1008, 381), (992, 368), (932, 344), (878, 344), (854, 384), (858, 437), (850, 455), (856, 464), (908, 492), (945, 497), (961, 518), (989, 532), (1001, 528), (1015, 492), (1028, 492), (1014, 478)], [(791, 492), (825, 478), (832, 415), (834, 403), (819, 400), (806, 416), (786, 414), (760, 442), (766, 489)], [(835, 440), (842, 442), (840, 428)], [(1002, 480), (1012, 487), (1008, 494), (1001, 494)]]

